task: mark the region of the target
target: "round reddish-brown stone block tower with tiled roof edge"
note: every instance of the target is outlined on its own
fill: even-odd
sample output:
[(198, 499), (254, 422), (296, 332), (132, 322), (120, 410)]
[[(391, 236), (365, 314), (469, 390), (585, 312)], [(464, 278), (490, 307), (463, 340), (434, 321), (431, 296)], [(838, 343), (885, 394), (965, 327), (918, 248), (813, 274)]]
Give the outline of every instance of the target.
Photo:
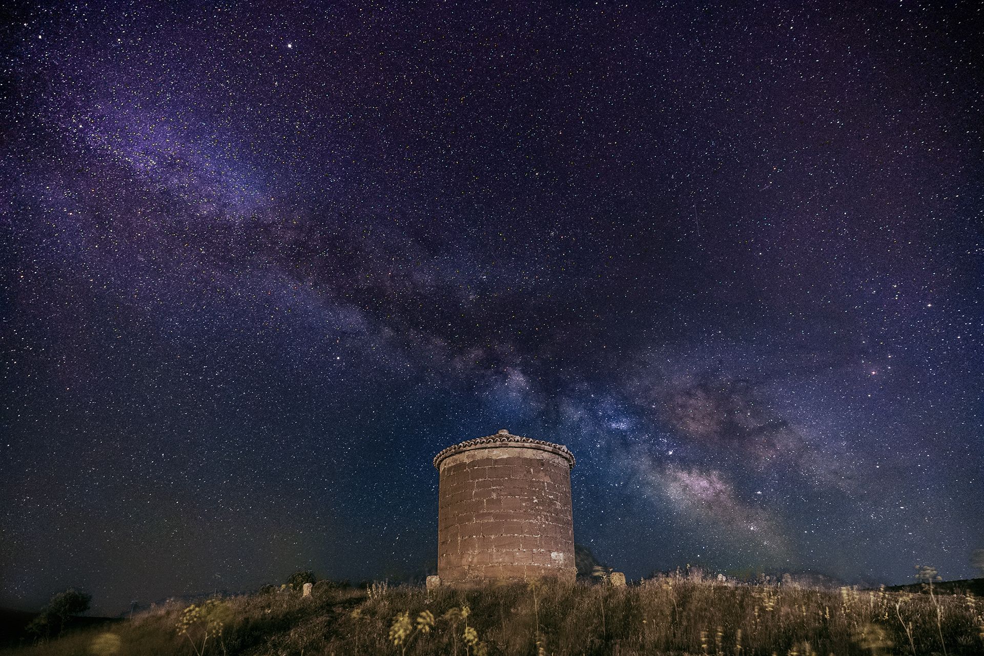
[(503, 429), (445, 448), (434, 466), (442, 585), (575, 580), (574, 455), (567, 447)]

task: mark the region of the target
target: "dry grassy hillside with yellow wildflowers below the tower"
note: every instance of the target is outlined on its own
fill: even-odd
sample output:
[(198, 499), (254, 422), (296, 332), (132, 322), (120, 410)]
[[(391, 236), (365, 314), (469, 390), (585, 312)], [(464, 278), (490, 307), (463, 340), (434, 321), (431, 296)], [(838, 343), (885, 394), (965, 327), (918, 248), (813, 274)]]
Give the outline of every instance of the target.
[(3, 654), (981, 654), (984, 600), (657, 576), (472, 591), (328, 581), (78, 630)]

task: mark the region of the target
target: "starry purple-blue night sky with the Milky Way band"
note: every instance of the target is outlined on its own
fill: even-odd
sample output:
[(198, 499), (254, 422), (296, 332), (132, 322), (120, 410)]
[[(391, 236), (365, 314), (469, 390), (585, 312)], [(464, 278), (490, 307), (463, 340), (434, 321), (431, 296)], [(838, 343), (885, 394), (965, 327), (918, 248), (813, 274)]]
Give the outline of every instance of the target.
[(5, 10), (0, 605), (426, 572), (501, 428), (630, 577), (974, 575), (984, 12), (793, 4)]

